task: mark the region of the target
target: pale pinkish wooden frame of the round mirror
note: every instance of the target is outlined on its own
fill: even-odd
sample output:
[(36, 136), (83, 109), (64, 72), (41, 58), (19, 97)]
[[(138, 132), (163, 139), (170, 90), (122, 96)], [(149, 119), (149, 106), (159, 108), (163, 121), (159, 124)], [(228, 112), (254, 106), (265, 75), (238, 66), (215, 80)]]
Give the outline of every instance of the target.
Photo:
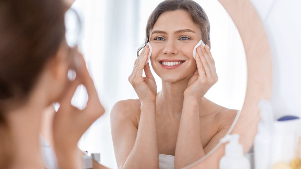
[[(247, 60), (247, 91), (244, 105), (231, 134), (240, 135), (240, 143), (247, 153), (253, 145), (260, 121), (258, 102), (271, 100), (272, 55), (265, 28), (249, 0), (218, 0), (234, 21), (244, 44)], [(215, 150), (215, 151), (214, 151)], [(225, 154), (225, 143), (219, 143), (212, 152), (184, 167), (191, 169), (219, 168), (219, 160)]]

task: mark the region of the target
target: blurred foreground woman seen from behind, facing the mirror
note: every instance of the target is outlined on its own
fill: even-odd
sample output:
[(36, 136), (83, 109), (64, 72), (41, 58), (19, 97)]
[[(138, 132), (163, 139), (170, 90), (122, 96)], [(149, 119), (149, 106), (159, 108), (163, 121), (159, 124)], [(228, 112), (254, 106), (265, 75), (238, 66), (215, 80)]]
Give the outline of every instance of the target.
[[(54, 102), (54, 150), (59, 168), (81, 168), (77, 142), (104, 113), (82, 55), (65, 39), (61, 0), (0, 1), (0, 168), (43, 168), (41, 115)], [(77, 77), (69, 81), (69, 69)], [(71, 105), (79, 84), (89, 100)]]

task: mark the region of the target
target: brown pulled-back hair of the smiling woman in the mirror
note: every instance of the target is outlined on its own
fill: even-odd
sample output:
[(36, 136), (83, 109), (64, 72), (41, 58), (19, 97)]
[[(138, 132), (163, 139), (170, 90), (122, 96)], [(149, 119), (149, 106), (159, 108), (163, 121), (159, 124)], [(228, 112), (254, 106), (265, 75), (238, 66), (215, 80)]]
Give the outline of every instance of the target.
[(147, 20), (146, 32), (145, 32), (145, 42), (138, 49), (137, 56), (139, 56), (139, 51), (145, 47), (146, 43), (150, 40), (150, 31), (153, 29), (157, 19), (161, 14), (167, 11), (184, 10), (187, 11), (194, 23), (200, 26), (202, 32), (202, 40), (209, 47), (210, 45), (210, 23), (208, 17), (203, 10), (203, 8), (196, 2), (192, 0), (165, 0), (161, 2), (152, 12), (151, 16)]

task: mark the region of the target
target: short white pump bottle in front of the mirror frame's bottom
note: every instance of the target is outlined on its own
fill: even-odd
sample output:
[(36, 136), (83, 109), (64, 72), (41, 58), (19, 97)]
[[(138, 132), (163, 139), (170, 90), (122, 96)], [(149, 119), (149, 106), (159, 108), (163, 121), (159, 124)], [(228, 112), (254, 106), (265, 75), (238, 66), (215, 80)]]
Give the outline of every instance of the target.
[(219, 161), (219, 169), (250, 169), (250, 161), (244, 156), (243, 147), (239, 144), (239, 135), (226, 135), (221, 139), (222, 143), (228, 141), (225, 156)]

